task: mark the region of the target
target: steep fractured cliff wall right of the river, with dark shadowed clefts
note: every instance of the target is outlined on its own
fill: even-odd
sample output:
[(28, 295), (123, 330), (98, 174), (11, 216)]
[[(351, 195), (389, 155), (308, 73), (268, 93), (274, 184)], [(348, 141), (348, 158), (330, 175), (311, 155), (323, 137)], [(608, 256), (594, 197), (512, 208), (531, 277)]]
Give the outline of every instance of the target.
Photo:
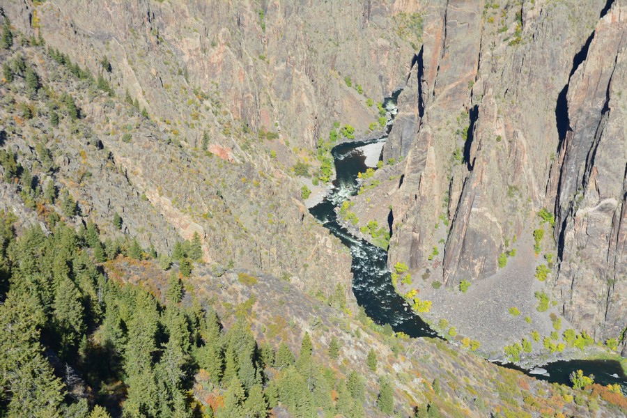
[[(555, 242), (543, 244), (557, 251), (552, 297), (581, 330), (619, 335), (625, 14), (612, 1), (426, 8), (424, 46), (384, 150), (386, 161), (405, 159), (390, 265), (437, 272), (451, 287), (488, 277), (544, 207), (557, 219)], [(440, 238), (444, 254), (427, 261)]]

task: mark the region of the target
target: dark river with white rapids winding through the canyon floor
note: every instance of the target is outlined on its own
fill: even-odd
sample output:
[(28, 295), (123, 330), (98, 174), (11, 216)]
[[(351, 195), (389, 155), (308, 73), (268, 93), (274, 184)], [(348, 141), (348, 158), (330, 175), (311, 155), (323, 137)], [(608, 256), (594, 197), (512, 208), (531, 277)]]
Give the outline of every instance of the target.
[[(412, 311), (407, 302), (398, 295), (392, 286), (392, 278), (387, 268), (387, 251), (372, 245), (350, 234), (341, 226), (337, 219), (336, 208), (341, 206), (350, 196), (357, 194), (357, 174), (365, 172), (366, 157), (362, 153), (363, 146), (382, 142), (387, 139), (394, 116), (396, 114), (397, 91), (383, 104), (388, 110), (389, 123), (387, 133), (378, 139), (369, 141), (352, 141), (339, 144), (332, 149), (335, 161), (336, 178), (333, 187), (321, 203), (311, 208), (318, 222), (329, 229), (333, 235), (350, 249), (353, 255), (353, 293), (359, 306), (379, 325), (389, 324), (395, 332), (404, 332), (411, 337), (438, 336), (424, 320)], [(571, 372), (581, 369), (586, 375), (594, 374), (595, 382), (602, 385), (618, 383), (627, 392), (627, 376), (619, 362), (614, 360), (569, 360), (546, 364), (545, 375), (532, 375), (528, 370), (520, 369), (512, 364), (505, 365), (523, 373), (548, 382), (570, 385), (568, 376)]]

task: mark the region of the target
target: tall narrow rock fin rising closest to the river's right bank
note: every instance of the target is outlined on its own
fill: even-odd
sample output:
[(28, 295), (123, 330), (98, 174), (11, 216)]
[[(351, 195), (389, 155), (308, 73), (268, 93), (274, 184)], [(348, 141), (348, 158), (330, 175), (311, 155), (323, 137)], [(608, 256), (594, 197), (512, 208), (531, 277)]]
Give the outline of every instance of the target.
[[(425, 22), (424, 47), (415, 60), (422, 65), (416, 70), (420, 79), (413, 82), (410, 77), (408, 88), (415, 95), (415, 114), (410, 121), (420, 116), (422, 106), (424, 116), (407, 153), (403, 184), (394, 199), (392, 248), (395, 250), (390, 257), (392, 264), (404, 261), (411, 268), (424, 265), (435, 243), (435, 231), (425, 226), (436, 224), (442, 213), (448, 188), (449, 150), (456, 144), (453, 132), (441, 127), (455, 121), (470, 98), (466, 86), (477, 72), (481, 7), (472, 1), (432, 4), (426, 10)], [(399, 109), (407, 112), (402, 105)], [(408, 124), (400, 119), (401, 124), (394, 125), (384, 155), (403, 156), (403, 147), (408, 147), (398, 144), (408, 130)], [(411, 129), (412, 123), (409, 125)]]

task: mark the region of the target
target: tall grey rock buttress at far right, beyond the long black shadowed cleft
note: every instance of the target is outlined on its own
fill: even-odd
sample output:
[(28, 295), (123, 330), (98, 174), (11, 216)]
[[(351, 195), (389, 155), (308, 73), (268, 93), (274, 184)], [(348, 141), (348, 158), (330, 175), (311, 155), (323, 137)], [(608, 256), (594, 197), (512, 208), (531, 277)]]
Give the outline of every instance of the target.
[(559, 273), (566, 317), (598, 338), (626, 326), (627, 8), (610, 8), (566, 86), (568, 126), (552, 167)]

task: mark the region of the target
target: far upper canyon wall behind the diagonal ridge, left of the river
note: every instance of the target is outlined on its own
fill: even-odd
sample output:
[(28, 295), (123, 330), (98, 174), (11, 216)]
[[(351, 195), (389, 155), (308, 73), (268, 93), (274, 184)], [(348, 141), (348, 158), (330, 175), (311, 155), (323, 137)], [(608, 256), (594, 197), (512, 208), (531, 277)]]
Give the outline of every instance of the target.
[[(233, 118), (252, 130), (279, 127), (293, 144), (311, 148), (340, 118), (362, 130), (373, 120), (344, 77), (373, 100), (398, 86), (410, 42), (418, 40), (398, 36), (392, 16), (418, 7), (417, 1), (76, 0), (35, 8), (24, 0), (8, 9), (26, 30), (36, 16), (48, 45), (73, 61), (95, 69), (107, 56), (121, 93), (128, 88), (150, 114), (180, 126), (190, 144), (200, 143), (203, 129), (212, 141), (230, 143), (219, 126)], [(198, 89), (215, 91), (217, 110), (185, 111)]]

